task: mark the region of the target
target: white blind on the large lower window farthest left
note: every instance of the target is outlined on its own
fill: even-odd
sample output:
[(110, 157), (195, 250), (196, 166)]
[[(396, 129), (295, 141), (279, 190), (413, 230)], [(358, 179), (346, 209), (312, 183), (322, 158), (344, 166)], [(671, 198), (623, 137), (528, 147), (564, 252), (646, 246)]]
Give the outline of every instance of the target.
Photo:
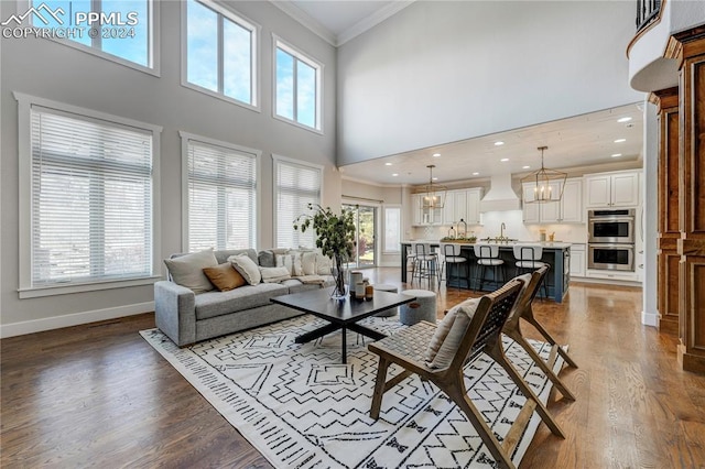
[(32, 286), (152, 274), (152, 132), (31, 108)]

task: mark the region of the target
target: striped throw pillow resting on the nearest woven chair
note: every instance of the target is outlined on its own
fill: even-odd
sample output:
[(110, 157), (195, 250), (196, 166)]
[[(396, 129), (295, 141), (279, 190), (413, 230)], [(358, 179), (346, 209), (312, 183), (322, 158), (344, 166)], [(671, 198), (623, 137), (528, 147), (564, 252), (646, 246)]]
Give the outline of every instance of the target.
[(451, 364), (479, 303), (479, 298), (467, 299), (452, 308), (443, 318), (424, 356), (430, 368), (443, 369)]

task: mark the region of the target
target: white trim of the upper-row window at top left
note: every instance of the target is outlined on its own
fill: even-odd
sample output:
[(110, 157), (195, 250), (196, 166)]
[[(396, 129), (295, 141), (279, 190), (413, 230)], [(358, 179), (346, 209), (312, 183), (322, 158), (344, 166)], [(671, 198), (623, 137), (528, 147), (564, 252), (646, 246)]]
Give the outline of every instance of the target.
[[(32, 0), (18, 0), (18, 11), (26, 11), (32, 7)], [(161, 10), (160, 10), (160, 1), (159, 0), (148, 0), (148, 14), (149, 14), (149, 45), (148, 45), (148, 54), (150, 66), (140, 65), (138, 63), (128, 61), (127, 58), (119, 57), (117, 55), (107, 53), (102, 50), (85, 45), (78, 43), (76, 41), (72, 41), (68, 39), (58, 39), (58, 37), (42, 37), (47, 41), (55, 42), (57, 44), (62, 44), (68, 47), (73, 47), (77, 51), (85, 52), (87, 54), (94, 55), (96, 57), (102, 58), (105, 61), (112, 62), (118, 65), (122, 65), (128, 68), (135, 69), (138, 72), (145, 73), (148, 75), (152, 75), (155, 77), (161, 77)]]

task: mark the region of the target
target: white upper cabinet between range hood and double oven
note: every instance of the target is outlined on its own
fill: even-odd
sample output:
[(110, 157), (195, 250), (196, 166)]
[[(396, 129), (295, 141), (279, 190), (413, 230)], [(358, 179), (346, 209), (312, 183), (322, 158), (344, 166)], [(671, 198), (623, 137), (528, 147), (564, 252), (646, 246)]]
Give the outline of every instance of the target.
[[(561, 190), (560, 183), (552, 185), (552, 192)], [(522, 186), (524, 223), (582, 223), (583, 222), (583, 179), (571, 178), (565, 182), (560, 201), (532, 204), (534, 185)]]

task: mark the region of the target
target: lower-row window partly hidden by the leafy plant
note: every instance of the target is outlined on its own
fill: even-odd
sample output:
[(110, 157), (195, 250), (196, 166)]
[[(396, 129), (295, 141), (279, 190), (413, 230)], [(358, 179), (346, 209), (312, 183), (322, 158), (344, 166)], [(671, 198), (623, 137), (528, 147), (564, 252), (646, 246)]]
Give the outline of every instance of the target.
[(319, 204), (323, 167), (283, 156), (274, 159), (274, 226), (278, 248), (315, 247), (313, 229), (305, 233), (293, 229), (302, 214), (312, 214), (308, 204)]

